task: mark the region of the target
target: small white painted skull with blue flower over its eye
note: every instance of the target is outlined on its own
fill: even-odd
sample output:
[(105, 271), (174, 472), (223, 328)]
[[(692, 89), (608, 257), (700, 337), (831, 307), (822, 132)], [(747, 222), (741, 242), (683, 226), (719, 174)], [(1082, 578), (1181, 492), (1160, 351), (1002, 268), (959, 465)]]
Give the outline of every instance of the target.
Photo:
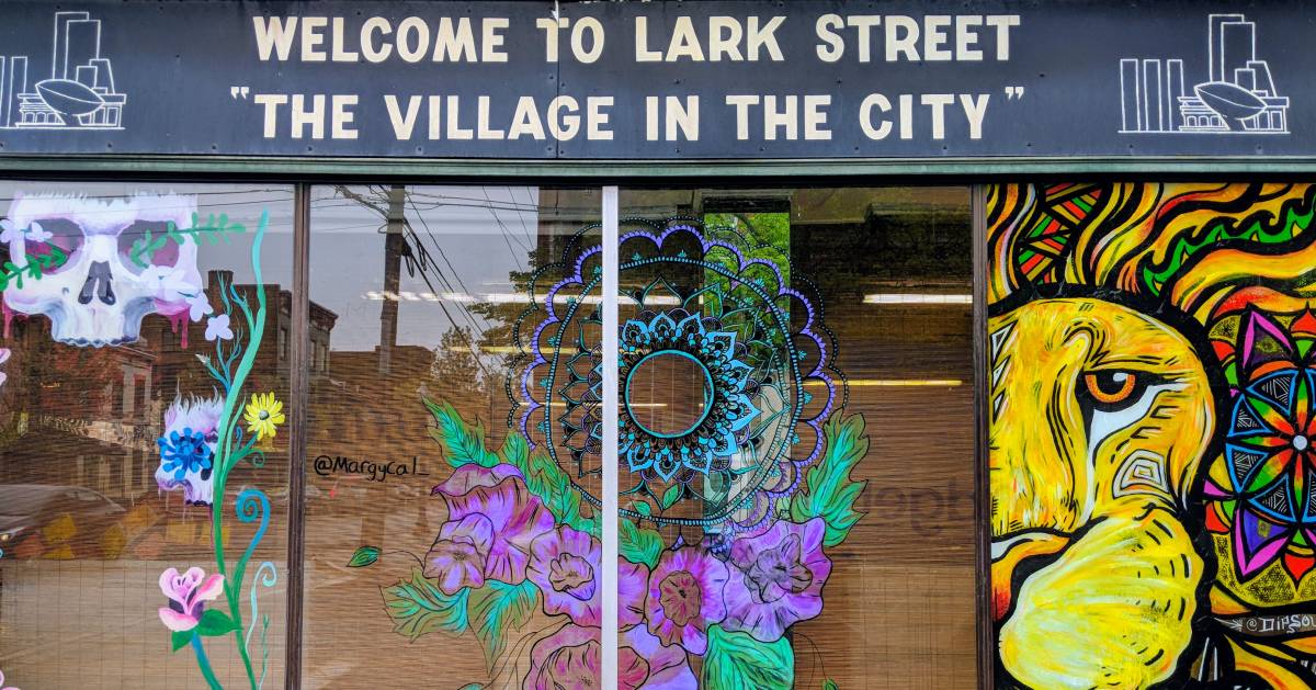
[(164, 411), (164, 432), (155, 441), (161, 466), (155, 483), (162, 491), (183, 489), (183, 502), (209, 506), (215, 495), (215, 445), (218, 442), (224, 398), (178, 396)]

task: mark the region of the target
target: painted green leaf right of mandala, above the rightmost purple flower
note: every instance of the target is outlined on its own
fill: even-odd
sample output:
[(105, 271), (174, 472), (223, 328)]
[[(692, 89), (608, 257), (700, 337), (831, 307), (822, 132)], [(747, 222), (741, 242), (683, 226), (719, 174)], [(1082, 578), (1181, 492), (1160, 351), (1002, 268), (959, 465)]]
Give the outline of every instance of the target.
[(836, 546), (863, 518), (854, 510), (854, 502), (869, 482), (850, 479), (850, 470), (869, 453), (863, 415), (832, 417), (822, 427), (822, 436), (826, 452), (804, 475), (804, 490), (791, 499), (791, 519), (803, 523), (822, 518), (826, 521), (822, 544)]

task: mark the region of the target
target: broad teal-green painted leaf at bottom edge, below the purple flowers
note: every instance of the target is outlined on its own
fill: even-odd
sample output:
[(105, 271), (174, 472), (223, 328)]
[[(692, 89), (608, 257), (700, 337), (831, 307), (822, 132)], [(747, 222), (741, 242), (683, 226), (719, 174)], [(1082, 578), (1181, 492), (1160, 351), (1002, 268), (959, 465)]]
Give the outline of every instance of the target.
[(700, 687), (770, 690), (790, 689), (794, 683), (795, 653), (784, 637), (761, 643), (744, 632), (726, 632), (721, 625), (708, 628), (708, 653), (704, 656)]

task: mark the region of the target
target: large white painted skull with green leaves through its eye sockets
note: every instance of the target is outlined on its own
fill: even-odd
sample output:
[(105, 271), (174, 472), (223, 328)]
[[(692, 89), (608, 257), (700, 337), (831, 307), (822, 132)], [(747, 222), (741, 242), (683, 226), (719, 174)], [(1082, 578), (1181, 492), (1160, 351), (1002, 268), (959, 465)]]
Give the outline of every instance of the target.
[[(142, 228), (157, 237), (166, 223), (192, 226), (196, 196), (142, 194), (125, 199), (67, 195), (17, 195), (3, 221), (9, 261), (26, 266), (28, 252), (46, 240), (67, 261), (41, 279), (11, 280), (4, 303), (11, 311), (50, 319), (54, 340), (78, 346), (120, 345), (138, 337), (149, 313), (186, 324), (188, 299), (201, 294), (196, 237), (180, 234), (129, 258)], [(136, 226), (136, 228), (134, 228)], [(134, 232), (125, 233), (134, 228)], [(184, 329), (186, 332), (186, 329)]]

